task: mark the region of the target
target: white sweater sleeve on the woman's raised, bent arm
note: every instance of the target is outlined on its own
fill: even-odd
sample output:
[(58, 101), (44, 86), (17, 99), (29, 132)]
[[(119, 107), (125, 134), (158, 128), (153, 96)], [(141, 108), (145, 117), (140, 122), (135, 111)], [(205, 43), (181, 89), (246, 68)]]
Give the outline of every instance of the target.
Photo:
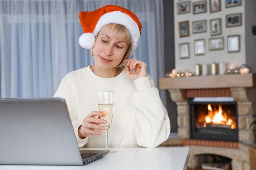
[(135, 136), (142, 147), (155, 148), (168, 139), (171, 125), (166, 108), (153, 79), (141, 77), (134, 80), (136, 92), (132, 94), (132, 105), (137, 108)]

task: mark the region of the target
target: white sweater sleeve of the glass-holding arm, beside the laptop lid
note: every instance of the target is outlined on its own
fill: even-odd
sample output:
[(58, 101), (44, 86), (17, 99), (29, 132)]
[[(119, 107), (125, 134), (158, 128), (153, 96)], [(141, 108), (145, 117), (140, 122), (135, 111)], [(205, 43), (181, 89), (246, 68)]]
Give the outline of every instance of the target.
[(71, 104), (72, 96), (68, 95), (65, 91), (65, 81), (64, 80), (61, 81), (61, 84), (58, 87), (54, 97), (63, 97), (65, 99), (66, 104), (67, 104), (67, 108), (68, 108), (68, 111), (69, 111), (69, 114), (70, 114), (70, 119), (72, 121), (72, 126), (73, 126), (73, 129), (74, 129), (74, 133), (75, 133), (75, 136), (76, 136), (76, 141), (77, 141), (77, 144), (78, 144), (79, 148), (81, 148), (82, 146), (87, 144), (89, 136), (86, 137), (85, 139), (81, 139), (78, 136), (78, 128), (79, 128), (79, 126), (81, 126), (82, 123), (80, 121), (78, 121), (76, 111), (74, 111), (76, 109), (73, 108), (73, 107), (76, 106), (76, 105)]

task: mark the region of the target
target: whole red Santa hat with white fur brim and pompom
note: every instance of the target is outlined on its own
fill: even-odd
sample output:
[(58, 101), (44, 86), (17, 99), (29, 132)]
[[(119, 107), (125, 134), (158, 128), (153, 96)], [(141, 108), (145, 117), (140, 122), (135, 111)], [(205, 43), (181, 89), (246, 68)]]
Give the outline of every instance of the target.
[(100, 29), (110, 23), (124, 25), (132, 37), (132, 52), (135, 52), (140, 39), (141, 23), (139, 18), (120, 6), (106, 5), (94, 11), (82, 11), (79, 19), (83, 28), (83, 34), (79, 38), (79, 44), (85, 49), (92, 49), (95, 43), (95, 36)]

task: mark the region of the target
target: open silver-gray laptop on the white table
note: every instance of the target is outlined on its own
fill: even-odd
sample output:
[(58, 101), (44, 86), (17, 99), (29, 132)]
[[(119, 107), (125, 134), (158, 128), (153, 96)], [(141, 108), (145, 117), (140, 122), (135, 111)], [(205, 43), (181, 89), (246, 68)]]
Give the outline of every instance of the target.
[(79, 150), (65, 99), (0, 99), (0, 164), (85, 165), (108, 150)]

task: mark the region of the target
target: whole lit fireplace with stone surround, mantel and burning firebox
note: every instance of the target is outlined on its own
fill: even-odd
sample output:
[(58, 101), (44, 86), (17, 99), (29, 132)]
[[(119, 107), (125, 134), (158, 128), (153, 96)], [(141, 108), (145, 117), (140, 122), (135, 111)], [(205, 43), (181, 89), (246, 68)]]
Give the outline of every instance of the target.
[[(256, 126), (250, 126), (256, 119), (256, 74), (160, 78), (159, 88), (167, 89), (177, 105), (177, 139), (168, 144), (189, 147), (189, 168), (202, 167), (210, 154), (230, 159), (232, 170), (250, 169), (249, 147), (256, 141)], [(198, 97), (204, 100), (196, 101)], [(206, 101), (208, 97), (233, 100)], [(213, 118), (220, 112), (235, 124), (208, 120), (207, 115)]]

